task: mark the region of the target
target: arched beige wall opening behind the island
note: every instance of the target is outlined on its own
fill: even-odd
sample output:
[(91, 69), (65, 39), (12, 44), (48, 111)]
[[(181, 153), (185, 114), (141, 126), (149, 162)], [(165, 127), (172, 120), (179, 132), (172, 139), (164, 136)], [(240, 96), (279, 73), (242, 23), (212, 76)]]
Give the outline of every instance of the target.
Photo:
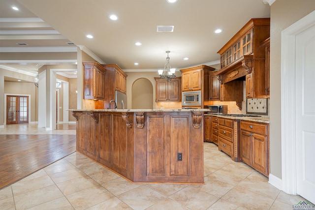
[(150, 80), (139, 78), (132, 84), (131, 109), (153, 109), (153, 85)]

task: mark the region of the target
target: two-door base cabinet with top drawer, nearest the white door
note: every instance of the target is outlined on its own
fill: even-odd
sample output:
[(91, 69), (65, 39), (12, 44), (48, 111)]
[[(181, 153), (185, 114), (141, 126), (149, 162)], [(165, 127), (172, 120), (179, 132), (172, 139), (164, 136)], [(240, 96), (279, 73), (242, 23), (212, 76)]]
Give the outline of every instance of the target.
[(267, 123), (241, 120), (240, 158), (265, 176), (269, 176), (269, 126)]

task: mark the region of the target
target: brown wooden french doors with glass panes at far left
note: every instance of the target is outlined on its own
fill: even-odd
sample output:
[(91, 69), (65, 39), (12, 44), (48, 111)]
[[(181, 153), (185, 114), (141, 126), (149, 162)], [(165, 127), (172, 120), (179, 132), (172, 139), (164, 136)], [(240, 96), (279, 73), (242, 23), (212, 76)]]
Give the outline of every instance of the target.
[(29, 96), (6, 96), (6, 124), (29, 123)]

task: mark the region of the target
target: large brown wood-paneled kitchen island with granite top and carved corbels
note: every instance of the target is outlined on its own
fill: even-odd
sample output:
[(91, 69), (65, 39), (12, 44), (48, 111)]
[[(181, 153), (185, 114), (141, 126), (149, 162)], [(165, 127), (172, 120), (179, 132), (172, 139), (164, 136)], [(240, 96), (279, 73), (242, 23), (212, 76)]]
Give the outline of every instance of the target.
[(69, 110), (77, 151), (133, 182), (204, 183), (208, 109)]

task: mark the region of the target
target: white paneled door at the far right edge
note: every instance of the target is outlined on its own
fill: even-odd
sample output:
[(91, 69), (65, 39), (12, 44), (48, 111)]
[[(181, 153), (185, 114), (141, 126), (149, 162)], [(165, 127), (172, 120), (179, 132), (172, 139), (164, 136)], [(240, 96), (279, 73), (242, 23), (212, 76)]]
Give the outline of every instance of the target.
[(297, 194), (315, 203), (315, 26), (295, 45)]

